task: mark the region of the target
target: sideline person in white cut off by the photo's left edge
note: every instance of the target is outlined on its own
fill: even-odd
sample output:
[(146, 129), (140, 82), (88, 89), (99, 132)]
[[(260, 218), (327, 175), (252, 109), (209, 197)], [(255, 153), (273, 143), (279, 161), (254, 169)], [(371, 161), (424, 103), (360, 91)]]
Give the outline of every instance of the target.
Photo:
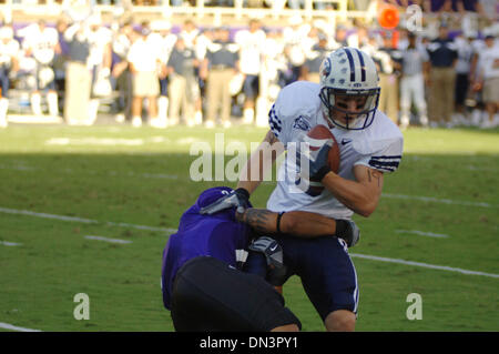
[(6, 128), (9, 110), (10, 75), (19, 69), (18, 54), (20, 45), (13, 38), (10, 26), (0, 28), (0, 128)]

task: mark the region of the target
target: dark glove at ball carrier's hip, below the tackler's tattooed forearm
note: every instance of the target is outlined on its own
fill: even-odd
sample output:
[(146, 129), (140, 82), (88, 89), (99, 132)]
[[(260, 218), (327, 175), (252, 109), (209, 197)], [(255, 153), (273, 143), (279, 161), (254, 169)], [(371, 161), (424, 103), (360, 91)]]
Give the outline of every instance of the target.
[(267, 262), (266, 281), (275, 286), (284, 284), (286, 266), (283, 262), (283, 249), (272, 237), (262, 236), (252, 242), (249, 251), (262, 253)]

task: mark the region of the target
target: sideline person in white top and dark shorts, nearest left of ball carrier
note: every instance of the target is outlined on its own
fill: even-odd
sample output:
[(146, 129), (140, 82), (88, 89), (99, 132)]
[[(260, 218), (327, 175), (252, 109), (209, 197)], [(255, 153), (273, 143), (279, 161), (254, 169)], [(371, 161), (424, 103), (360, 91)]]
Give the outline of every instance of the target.
[(261, 22), (249, 20), (247, 30), (237, 31), (235, 42), (240, 45), (240, 70), (245, 75), (243, 83), (244, 108), (243, 123), (253, 124), (255, 119), (255, 102), (259, 94), (259, 73), (265, 53), (265, 32)]

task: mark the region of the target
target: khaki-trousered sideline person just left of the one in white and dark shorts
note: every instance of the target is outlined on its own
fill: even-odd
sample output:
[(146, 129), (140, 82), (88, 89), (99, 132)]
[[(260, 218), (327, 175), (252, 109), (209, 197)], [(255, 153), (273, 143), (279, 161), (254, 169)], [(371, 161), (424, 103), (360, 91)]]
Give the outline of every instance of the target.
[(204, 68), (207, 72), (206, 127), (215, 125), (216, 113), (224, 128), (231, 127), (230, 83), (237, 71), (238, 47), (231, 41), (228, 29), (220, 28), (215, 40), (207, 48)]

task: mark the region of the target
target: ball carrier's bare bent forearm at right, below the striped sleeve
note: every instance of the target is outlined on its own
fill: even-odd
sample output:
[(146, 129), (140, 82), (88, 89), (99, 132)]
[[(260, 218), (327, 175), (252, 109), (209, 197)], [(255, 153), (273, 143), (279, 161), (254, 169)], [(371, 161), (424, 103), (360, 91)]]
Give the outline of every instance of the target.
[[(374, 176), (369, 175), (369, 179)], [(364, 183), (346, 180), (334, 172), (327, 173), (322, 183), (339, 202), (361, 216), (367, 218), (376, 210), (378, 195)]]

